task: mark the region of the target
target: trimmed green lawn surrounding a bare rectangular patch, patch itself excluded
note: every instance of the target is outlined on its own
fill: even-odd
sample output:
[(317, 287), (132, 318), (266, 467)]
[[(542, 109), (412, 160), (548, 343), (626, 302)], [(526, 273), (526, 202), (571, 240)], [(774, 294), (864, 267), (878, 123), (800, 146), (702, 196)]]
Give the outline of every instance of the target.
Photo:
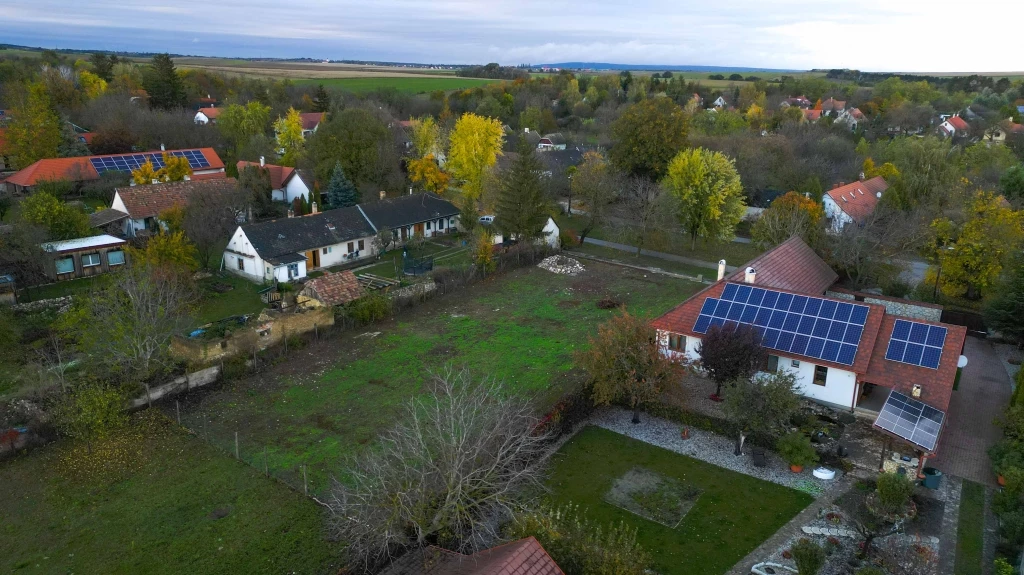
[[(675, 529), (604, 501), (614, 480), (637, 466), (702, 491)], [(665, 575), (725, 573), (812, 501), (806, 493), (596, 427), (555, 454), (548, 485), (555, 504), (579, 504), (600, 523), (636, 527), (654, 569)]]

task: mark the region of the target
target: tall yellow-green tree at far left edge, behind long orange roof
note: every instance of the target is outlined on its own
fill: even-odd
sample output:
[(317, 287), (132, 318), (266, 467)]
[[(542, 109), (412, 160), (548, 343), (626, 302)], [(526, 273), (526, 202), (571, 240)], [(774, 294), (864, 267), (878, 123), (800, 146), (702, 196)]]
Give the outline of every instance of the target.
[(56, 158), (60, 144), (60, 117), (43, 84), (30, 84), (15, 100), (7, 123), (5, 154), (25, 168), (44, 158)]

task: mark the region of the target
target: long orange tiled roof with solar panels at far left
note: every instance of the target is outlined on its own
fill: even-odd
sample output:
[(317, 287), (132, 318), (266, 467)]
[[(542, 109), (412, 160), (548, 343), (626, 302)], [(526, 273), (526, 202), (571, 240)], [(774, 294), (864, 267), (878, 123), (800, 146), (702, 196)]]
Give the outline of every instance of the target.
[(106, 156), (81, 156), (78, 158), (47, 158), (7, 176), (2, 182), (8, 192), (28, 192), (44, 181), (65, 180), (73, 183), (98, 180), (101, 174), (120, 172), (130, 174), (147, 161), (157, 170), (164, 167), (164, 154), (186, 158), (193, 169), (194, 180), (223, 178), (224, 163), (212, 147), (197, 149), (171, 149), (141, 153), (112, 153)]

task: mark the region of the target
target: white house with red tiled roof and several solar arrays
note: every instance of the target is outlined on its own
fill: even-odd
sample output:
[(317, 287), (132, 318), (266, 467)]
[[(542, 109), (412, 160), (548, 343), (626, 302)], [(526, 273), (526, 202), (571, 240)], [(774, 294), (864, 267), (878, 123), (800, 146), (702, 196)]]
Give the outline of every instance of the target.
[(689, 361), (709, 330), (754, 326), (768, 348), (765, 370), (788, 371), (805, 397), (873, 417), (934, 453), (967, 328), (939, 321), (939, 306), (838, 289), (837, 279), (793, 237), (729, 275), (720, 262), (718, 281), (652, 325), (664, 354)]

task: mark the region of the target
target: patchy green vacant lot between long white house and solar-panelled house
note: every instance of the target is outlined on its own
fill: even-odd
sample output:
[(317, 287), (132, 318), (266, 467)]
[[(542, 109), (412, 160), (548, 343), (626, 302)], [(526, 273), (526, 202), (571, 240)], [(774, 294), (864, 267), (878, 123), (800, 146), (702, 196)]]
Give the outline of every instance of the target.
[(238, 431), (243, 451), (266, 448), (271, 470), (292, 485), (302, 485), (300, 467), (309, 466), (318, 489), (341, 456), (371, 443), (407, 399), (425, 391), (428, 370), (466, 366), (550, 404), (581, 381), (572, 354), (614, 313), (598, 309), (598, 300), (610, 296), (652, 316), (700, 288), (584, 265), (577, 277), (522, 268), (293, 352), (266, 373), (193, 394), (182, 421), (225, 449), (233, 449)]

